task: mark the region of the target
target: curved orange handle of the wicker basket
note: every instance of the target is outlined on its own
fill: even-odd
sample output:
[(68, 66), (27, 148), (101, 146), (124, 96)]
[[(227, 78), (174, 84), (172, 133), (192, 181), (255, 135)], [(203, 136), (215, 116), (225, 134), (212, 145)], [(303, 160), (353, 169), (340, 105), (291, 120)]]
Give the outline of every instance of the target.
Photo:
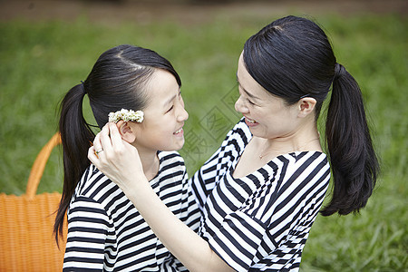
[(61, 143), (60, 132), (53, 134), (53, 137), (48, 141), (43, 149), (38, 153), (37, 158), (34, 160), (33, 167), (30, 171), (30, 176), (28, 177), (27, 187), (25, 189), (25, 194), (29, 198), (34, 198), (38, 184), (40, 184), (41, 177), (43, 177), (45, 164), (48, 158), (50, 158), (51, 151), (53, 148)]

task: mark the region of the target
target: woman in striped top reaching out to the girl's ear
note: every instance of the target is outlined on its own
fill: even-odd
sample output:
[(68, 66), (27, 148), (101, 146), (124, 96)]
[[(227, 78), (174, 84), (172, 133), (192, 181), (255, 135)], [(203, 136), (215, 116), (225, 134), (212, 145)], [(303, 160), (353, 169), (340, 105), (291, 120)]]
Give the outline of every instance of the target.
[[(322, 29), (295, 16), (248, 39), (237, 78), (244, 118), (190, 180), (203, 214), (199, 235), (153, 197), (140, 167), (130, 169), (137, 151), (114, 126), (102, 129), (88, 156), (190, 271), (297, 271), (330, 170), (334, 191), (324, 216), (362, 209), (373, 191), (378, 163), (362, 94)], [(330, 89), (327, 158), (316, 121)], [(106, 152), (96, 158), (100, 148)]]

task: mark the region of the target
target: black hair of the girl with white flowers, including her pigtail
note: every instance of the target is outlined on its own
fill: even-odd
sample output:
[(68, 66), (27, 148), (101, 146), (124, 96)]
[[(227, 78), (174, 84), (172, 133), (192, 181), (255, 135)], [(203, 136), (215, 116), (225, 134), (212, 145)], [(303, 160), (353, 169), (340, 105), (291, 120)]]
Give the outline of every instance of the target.
[(83, 97), (88, 94), (99, 128), (108, 122), (109, 112), (143, 110), (147, 103), (146, 83), (155, 69), (180, 76), (168, 60), (149, 49), (119, 45), (102, 53), (86, 80), (66, 93), (61, 102), (59, 131), (63, 141), (63, 196), (53, 227), (55, 238), (63, 235), (65, 212), (78, 181), (89, 167), (87, 158), (95, 134), (83, 118)]

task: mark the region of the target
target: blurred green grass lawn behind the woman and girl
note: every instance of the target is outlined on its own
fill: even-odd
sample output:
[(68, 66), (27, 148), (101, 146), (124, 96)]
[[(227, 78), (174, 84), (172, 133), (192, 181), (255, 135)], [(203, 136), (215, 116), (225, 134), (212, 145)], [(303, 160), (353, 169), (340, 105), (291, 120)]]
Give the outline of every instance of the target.
[[(274, 18), (181, 25), (24, 22), (0, 24), (0, 191), (24, 193), (36, 154), (56, 131), (58, 103), (117, 44), (149, 47), (180, 73), (189, 112), (181, 152), (189, 174), (238, 121), (238, 55), (250, 34)], [(408, 21), (396, 15), (319, 16), (339, 63), (360, 83), (382, 175), (358, 216), (319, 216), (304, 250), (303, 271), (407, 271)], [(240, 20), (240, 21), (239, 21)], [(92, 117), (85, 107), (89, 121)], [(60, 151), (53, 151), (38, 192), (61, 191)]]

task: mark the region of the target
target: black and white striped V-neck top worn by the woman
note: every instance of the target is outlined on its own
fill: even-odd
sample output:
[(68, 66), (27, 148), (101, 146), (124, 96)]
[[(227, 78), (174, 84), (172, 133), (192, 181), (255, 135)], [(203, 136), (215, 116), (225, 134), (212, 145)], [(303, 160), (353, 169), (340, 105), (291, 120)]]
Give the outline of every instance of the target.
[(293, 152), (232, 177), (252, 138), (243, 120), (189, 180), (203, 212), (200, 235), (237, 271), (298, 271), (330, 179), (324, 153)]

